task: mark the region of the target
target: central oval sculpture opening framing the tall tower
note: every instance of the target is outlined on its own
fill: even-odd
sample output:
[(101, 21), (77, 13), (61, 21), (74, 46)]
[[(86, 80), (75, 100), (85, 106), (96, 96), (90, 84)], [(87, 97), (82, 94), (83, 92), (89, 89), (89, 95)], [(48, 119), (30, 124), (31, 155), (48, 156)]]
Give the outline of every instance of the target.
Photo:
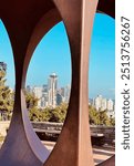
[(38, 44), (29, 64), (25, 102), (33, 129), (51, 151), (62, 131), (71, 92), (71, 53), (63, 22)]

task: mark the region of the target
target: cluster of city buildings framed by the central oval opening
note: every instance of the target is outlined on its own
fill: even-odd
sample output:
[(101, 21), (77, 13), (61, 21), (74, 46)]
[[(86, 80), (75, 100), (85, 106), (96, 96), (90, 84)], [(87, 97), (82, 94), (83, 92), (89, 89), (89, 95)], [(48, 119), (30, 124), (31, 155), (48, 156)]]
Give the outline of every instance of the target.
[(27, 92), (34, 94), (39, 100), (38, 107), (55, 107), (61, 103), (69, 103), (71, 86), (58, 87), (58, 75), (52, 73), (49, 75), (48, 84), (42, 86), (27, 86)]

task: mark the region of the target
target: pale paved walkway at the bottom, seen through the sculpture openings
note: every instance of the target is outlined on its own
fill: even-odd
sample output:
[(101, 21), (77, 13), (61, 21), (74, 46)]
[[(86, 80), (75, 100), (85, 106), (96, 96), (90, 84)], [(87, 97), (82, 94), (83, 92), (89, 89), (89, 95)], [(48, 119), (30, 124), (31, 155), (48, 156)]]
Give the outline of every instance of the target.
[[(55, 145), (55, 143), (53, 142), (42, 142), (43, 145), (45, 145), (45, 147), (51, 152)], [(0, 147), (1, 147), (1, 143), (0, 143)], [(109, 149), (109, 148), (101, 148), (101, 147), (94, 147), (93, 148), (93, 158), (94, 158), (94, 163), (95, 165), (99, 163), (102, 163), (103, 160), (107, 159), (109, 157), (111, 157), (112, 155), (114, 155), (114, 149)]]

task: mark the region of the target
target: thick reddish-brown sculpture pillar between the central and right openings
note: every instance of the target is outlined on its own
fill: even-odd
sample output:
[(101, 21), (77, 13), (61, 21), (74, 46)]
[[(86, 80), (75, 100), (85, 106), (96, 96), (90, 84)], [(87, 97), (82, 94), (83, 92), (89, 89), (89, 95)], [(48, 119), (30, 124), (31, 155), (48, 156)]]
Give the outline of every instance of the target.
[[(72, 56), (72, 91), (64, 126), (44, 166), (72, 166), (72, 163), (75, 166), (93, 166), (87, 115), (87, 72), (89, 45), (97, 0), (90, 2), (87, 0), (54, 0), (54, 3), (61, 13), (69, 37)], [(90, 14), (87, 14), (89, 10)], [(64, 144), (65, 139), (68, 141)]]

